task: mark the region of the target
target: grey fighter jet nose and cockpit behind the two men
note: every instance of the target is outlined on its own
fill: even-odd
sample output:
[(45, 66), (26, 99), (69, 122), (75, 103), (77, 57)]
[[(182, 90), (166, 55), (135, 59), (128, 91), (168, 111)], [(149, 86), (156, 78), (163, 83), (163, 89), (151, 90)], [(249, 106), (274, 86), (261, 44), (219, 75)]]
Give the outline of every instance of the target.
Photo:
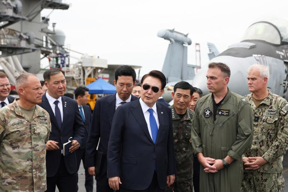
[[(210, 62), (226, 63), (231, 70), (228, 87), (240, 95), (249, 94), (247, 68), (252, 64), (269, 66), (268, 89), (288, 99), (288, 22), (285, 19), (266, 18), (248, 27), (242, 41), (232, 44)], [(202, 66), (192, 85), (208, 94), (206, 72)]]

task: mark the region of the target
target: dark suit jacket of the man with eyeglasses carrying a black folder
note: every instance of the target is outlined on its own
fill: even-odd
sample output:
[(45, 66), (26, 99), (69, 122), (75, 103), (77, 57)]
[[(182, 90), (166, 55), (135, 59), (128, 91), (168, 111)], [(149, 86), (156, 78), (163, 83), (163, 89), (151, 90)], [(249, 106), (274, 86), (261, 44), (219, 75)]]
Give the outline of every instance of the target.
[[(101, 138), (98, 150), (104, 153), (104, 160), (101, 175), (96, 176), (96, 180), (101, 178), (107, 171), (107, 148), (112, 120), (115, 113), (116, 94), (117, 93), (107, 95), (98, 99), (92, 113), (90, 132), (86, 145), (85, 167), (95, 166), (94, 156), (99, 139)], [(131, 95), (131, 101), (137, 99), (137, 97)]]

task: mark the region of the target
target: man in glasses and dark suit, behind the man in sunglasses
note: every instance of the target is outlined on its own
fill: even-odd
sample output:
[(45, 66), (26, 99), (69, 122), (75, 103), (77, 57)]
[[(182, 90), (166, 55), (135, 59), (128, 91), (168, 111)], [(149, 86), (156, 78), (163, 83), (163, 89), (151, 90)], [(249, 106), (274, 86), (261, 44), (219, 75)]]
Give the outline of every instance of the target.
[(113, 192), (107, 179), (107, 148), (113, 116), (117, 107), (138, 98), (131, 95), (135, 85), (135, 70), (127, 65), (120, 66), (115, 71), (114, 85), (116, 93), (97, 100), (91, 119), (90, 132), (86, 145), (86, 162), (90, 175), (95, 175), (95, 152), (100, 139), (98, 150), (104, 153), (103, 166), (100, 175), (95, 176), (96, 190)]

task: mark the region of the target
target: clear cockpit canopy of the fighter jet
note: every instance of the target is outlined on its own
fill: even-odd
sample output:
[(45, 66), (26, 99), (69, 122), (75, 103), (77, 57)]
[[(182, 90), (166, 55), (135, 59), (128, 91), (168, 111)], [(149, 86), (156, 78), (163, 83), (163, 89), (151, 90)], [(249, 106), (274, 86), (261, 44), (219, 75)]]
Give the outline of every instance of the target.
[[(281, 41), (288, 42), (288, 21), (277, 17), (266, 17), (251, 25), (245, 32), (243, 40), (262, 40), (280, 45)], [(272, 23), (273, 25), (271, 25)], [(277, 31), (277, 29), (280, 31)]]

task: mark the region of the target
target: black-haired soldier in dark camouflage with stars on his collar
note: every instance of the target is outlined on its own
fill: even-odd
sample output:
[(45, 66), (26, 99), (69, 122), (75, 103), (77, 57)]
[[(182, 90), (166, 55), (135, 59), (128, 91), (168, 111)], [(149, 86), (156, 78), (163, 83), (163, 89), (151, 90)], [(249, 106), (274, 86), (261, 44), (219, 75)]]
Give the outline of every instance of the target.
[(176, 179), (166, 187), (169, 192), (193, 191), (193, 154), (191, 128), (193, 111), (187, 109), (193, 98), (193, 87), (185, 81), (174, 85), (174, 104), (170, 106), (173, 120), (174, 150), (176, 156)]

